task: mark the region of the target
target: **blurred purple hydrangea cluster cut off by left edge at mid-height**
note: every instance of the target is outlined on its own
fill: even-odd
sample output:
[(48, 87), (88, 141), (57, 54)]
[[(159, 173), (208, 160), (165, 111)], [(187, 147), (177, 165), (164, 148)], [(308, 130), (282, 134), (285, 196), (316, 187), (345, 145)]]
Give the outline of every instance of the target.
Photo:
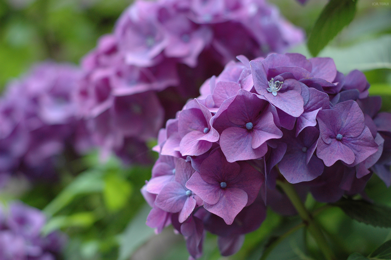
[(47, 62), (34, 66), (25, 77), (7, 86), (0, 100), (3, 180), (18, 173), (32, 180), (55, 176), (56, 157), (66, 142), (71, 143), (70, 138), (76, 138), (73, 93), (81, 76), (74, 66)]

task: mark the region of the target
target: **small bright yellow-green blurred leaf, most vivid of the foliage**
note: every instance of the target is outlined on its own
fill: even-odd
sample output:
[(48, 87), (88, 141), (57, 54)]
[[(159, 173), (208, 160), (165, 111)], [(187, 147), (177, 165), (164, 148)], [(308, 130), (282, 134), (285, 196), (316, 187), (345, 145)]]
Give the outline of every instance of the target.
[(110, 172), (105, 176), (103, 198), (108, 210), (115, 212), (123, 208), (131, 193), (131, 183), (119, 176), (118, 172)]

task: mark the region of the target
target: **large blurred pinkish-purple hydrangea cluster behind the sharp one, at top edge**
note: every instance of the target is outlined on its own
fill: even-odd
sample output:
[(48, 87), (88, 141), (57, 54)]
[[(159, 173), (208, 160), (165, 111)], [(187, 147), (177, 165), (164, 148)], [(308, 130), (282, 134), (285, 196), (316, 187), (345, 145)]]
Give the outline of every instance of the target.
[(164, 118), (228, 61), (283, 52), (303, 39), (264, 0), (138, 0), (83, 58), (81, 116), (103, 154), (143, 161), (144, 143)]

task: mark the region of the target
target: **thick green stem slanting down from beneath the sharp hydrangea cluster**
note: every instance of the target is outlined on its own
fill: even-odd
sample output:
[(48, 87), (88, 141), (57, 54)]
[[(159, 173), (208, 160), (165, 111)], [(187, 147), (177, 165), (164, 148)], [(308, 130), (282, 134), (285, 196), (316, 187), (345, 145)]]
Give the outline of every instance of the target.
[(287, 181), (280, 180), (277, 180), (277, 184), (282, 188), (282, 190), (288, 196), (289, 200), (292, 202), (293, 206), (296, 208), (296, 211), (299, 213), (301, 219), (303, 219), (304, 224), (307, 225), (308, 231), (315, 239), (325, 258), (327, 260), (335, 260), (336, 258), (334, 253), (328, 246), (325, 236), (310, 213), (305, 208), (293, 185)]

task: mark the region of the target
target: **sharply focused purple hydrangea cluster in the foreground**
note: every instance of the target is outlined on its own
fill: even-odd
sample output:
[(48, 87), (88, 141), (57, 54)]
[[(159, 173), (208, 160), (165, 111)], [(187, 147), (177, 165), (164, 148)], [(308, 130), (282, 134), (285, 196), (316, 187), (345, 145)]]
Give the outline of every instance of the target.
[(362, 193), (373, 172), (391, 181), (391, 114), (379, 113), (362, 72), (345, 76), (332, 59), (301, 54), (237, 59), (160, 130), (142, 188), (147, 225), (172, 223), (193, 258), (205, 231), (218, 235), (222, 255), (235, 253), (265, 204), (294, 214), (277, 179), (321, 202)]

